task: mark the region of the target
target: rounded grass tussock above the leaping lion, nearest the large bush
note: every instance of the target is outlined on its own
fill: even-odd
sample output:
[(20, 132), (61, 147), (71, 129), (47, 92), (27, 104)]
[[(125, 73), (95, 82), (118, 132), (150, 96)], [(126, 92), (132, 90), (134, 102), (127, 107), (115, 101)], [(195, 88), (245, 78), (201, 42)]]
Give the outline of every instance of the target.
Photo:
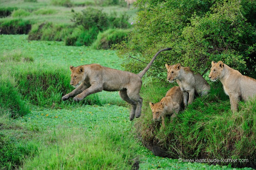
[(109, 49), (112, 44), (124, 41), (130, 31), (124, 29), (108, 29), (99, 33), (97, 40), (92, 44), (93, 49)]

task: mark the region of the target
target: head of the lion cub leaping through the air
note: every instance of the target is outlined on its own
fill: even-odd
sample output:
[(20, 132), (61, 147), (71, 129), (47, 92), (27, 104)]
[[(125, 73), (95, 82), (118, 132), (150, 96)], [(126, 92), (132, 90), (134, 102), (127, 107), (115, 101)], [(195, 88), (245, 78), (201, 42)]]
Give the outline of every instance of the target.
[(78, 87), (85, 79), (84, 74), (84, 67), (83, 66), (70, 66), (69, 69), (71, 70), (71, 80), (70, 85), (73, 87)]

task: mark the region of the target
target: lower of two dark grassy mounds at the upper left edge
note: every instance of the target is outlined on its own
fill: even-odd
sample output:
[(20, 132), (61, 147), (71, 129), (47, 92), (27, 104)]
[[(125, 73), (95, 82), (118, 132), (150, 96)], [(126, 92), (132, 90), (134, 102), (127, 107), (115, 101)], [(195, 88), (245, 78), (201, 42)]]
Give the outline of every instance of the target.
[(0, 34), (27, 34), (31, 23), (22, 19), (5, 19), (0, 21)]

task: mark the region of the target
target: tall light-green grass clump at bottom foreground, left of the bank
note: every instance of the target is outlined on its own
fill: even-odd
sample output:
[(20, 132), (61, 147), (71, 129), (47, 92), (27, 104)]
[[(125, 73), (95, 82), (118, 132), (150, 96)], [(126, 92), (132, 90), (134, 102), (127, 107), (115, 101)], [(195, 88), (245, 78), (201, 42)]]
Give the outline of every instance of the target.
[(24, 163), (24, 169), (132, 169), (138, 158), (138, 145), (114, 124), (99, 127), (92, 134), (62, 128), (52, 135), (57, 144), (40, 150)]

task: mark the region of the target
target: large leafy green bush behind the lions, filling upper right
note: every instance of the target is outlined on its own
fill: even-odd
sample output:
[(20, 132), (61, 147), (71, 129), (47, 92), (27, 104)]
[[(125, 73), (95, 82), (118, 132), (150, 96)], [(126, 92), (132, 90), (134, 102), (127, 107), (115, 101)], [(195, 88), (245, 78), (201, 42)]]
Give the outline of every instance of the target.
[[(137, 72), (162, 48), (172, 47), (170, 55), (160, 54), (154, 65), (181, 63), (205, 73), (212, 60), (223, 60), (230, 67), (255, 77), (256, 1), (138, 1), (135, 29), (128, 43), (116, 46), (126, 70)], [(145, 64), (146, 65), (146, 64)], [(128, 66), (128, 67), (126, 67)], [(154, 76), (165, 79), (161, 69)]]

